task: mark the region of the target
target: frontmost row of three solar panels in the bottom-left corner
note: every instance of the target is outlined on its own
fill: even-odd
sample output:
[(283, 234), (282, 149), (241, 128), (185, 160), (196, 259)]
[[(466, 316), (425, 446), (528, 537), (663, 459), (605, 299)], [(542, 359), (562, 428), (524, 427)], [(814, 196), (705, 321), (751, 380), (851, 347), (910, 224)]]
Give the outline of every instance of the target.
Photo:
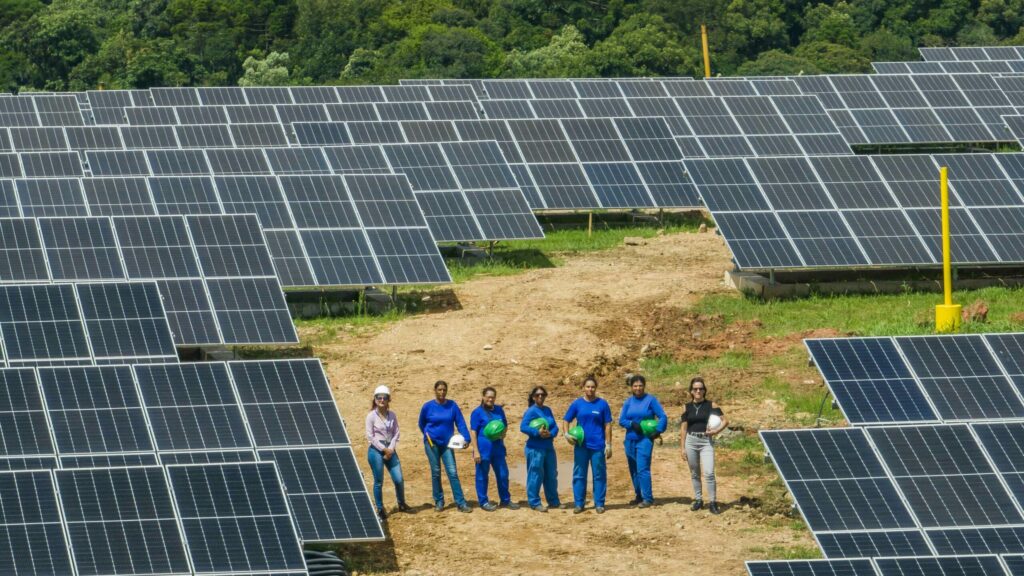
[(0, 472), (12, 576), (308, 574), (273, 463)]

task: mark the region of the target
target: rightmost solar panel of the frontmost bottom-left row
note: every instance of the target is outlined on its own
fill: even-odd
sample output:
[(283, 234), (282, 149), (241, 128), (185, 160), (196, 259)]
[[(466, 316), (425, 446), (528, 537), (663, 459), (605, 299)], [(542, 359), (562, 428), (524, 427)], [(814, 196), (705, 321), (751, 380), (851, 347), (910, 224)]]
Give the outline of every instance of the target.
[(305, 567), (273, 464), (169, 466), (167, 474), (197, 572)]

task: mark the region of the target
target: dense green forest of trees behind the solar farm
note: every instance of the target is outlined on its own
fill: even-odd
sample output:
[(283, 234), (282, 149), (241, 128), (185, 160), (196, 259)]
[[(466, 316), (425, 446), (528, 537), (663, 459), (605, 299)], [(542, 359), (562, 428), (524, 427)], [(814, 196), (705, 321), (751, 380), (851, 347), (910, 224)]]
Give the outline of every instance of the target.
[(0, 0), (0, 90), (868, 72), (1024, 44), (1024, 0)]

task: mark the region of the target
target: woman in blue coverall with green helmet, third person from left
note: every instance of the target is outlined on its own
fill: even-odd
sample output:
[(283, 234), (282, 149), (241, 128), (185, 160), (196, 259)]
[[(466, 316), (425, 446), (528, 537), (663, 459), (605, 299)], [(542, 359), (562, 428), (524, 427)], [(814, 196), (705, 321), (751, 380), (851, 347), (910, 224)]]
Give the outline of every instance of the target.
[[(499, 505), (519, 509), (519, 504), (513, 502), (509, 494), (509, 466), (505, 459), (505, 433), (508, 431), (509, 421), (505, 417), (505, 410), (495, 404), (497, 398), (498, 390), (492, 386), (483, 388), (480, 405), (469, 416), (469, 431), (473, 435), (473, 460), (476, 461), (476, 498), (480, 507), (488, 512), (497, 510)], [(505, 433), (495, 440), (483, 434), (483, 428), (492, 420), (501, 420), (505, 424)], [(495, 469), (498, 504), (487, 497), (490, 468)]]

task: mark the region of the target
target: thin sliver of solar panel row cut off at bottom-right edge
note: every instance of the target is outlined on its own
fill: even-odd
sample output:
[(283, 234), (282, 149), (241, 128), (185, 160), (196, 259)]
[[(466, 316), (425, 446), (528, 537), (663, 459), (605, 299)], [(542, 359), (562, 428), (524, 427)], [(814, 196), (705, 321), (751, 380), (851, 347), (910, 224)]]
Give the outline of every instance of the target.
[(1024, 556), (748, 562), (746, 572), (750, 576), (1022, 576)]

